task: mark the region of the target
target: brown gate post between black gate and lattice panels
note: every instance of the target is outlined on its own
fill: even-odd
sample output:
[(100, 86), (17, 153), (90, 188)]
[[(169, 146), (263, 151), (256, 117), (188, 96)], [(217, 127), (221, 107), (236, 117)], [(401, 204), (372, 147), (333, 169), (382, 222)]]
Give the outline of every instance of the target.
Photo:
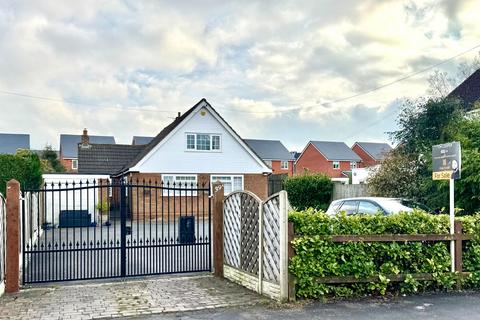
[(213, 184), (213, 268), (214, 275), (223, 277), (223, 184)]

